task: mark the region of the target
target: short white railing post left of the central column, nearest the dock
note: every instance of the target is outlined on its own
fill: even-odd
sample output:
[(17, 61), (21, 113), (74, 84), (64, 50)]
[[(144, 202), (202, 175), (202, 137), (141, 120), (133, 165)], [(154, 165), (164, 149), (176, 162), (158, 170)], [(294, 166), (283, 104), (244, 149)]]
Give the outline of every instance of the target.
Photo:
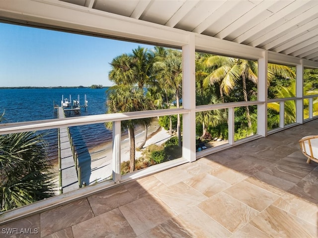
[(120, 177), (120, 141), (121, 141), (121, 128), (120, 121), (113, 121), (113, 180), (114, 182), (119, 182)]

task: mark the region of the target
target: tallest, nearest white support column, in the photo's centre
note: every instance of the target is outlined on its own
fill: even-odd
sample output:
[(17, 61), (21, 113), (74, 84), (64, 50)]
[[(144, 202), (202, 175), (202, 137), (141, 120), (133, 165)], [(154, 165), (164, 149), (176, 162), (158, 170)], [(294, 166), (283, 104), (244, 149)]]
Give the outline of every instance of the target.
[(188, 44), (182, 46), (182, 105), (191, 111), (182, 116), (182, 157), (189, 162), (195, 155), (195, 37), (189, 35)]

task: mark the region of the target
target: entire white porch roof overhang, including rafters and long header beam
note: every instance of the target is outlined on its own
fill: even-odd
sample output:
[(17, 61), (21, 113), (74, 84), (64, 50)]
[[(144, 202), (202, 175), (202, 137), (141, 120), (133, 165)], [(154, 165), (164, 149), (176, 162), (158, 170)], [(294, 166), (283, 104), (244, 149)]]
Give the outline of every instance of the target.
[(0, 0), (0, 22), (318, 67), (317, 0)]

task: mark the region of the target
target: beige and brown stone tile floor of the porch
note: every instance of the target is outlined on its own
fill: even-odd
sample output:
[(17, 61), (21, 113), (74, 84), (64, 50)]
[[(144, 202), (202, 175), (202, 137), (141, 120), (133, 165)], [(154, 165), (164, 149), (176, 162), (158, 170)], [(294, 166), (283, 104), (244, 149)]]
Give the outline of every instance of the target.
[[(28, 238), (318, 237), (318, 120), (0, 226)], [(34, 230), (35, 229), (35, 230)], [(11, 237), (0, 234), (0, 237)]]

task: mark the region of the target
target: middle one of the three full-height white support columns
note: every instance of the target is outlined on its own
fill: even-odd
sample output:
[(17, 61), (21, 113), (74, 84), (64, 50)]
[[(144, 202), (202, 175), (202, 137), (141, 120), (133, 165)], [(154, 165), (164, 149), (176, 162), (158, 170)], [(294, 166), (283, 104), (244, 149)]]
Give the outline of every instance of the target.
[(258, 59), (258, 101), (264, 102), (257, 105), (257, 134), (267, 136), (267, 65), (268, 53), (263, 52), (263, 57)]

